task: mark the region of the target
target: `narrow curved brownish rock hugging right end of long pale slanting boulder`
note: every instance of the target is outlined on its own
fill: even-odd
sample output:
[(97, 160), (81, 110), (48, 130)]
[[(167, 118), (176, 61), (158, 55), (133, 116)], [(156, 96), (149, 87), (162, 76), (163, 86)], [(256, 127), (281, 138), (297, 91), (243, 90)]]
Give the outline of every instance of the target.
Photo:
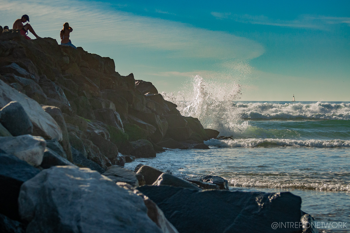
[(54, 106), (41, 106), (41, 108), (50, 114), (52, 118), (56, 121), (58, 126), (62, 130), (62, 141), (60, 142), (65, 153), (66, 153), (66, 159), (69, 161), (72, 161), (72, 152), (70, 151), (70, 143), (69, 143), (69, 136), (67, 131), (67, 126), (65, 124), (65, 120), (63, 117), (63, 114), (61, 112), (61, 109), (54, 107)]

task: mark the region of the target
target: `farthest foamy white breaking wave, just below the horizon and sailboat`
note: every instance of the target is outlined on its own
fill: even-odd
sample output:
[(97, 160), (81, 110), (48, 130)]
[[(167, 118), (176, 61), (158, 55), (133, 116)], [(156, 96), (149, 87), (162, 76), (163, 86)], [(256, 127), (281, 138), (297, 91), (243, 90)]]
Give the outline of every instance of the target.
[(236, 111), (244, 119), (312, 119), (312, 120), (349, 120), (350, 104), (313, 104), (286, 103), (237, 103)]

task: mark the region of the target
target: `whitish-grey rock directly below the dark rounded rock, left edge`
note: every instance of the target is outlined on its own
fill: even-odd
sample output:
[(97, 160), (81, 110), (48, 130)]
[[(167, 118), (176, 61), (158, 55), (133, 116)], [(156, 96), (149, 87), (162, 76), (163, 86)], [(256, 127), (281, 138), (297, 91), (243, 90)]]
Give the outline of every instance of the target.
[(28, 162), (32, 166), (39, 166), (43, 160), (46, 141), (42, 137), (29, 134), (17, 137), (0, 137), (0, 148), (7, 154)]

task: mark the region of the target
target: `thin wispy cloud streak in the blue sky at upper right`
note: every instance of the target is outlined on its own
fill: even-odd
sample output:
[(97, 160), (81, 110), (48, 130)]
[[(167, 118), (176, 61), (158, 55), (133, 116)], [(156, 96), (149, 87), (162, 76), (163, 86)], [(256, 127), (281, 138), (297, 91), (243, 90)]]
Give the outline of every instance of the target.
[(294, 27), (294, 28), (315, 28), (315, 29), (329, 29), (330, 25), (334, 24), (349, 24), (349, 17), (327, 17), (327, 16), (313, 16), (301, 15), (294, 20), (280, 20), (270, 19), (264, 15), (249, 15), (249, 14), (232, 14), (230, 12), (211, 12), (211, 15), (217, 19), (232, 19), (237, 22), (246, 24), (260, 24), (280, 27)]

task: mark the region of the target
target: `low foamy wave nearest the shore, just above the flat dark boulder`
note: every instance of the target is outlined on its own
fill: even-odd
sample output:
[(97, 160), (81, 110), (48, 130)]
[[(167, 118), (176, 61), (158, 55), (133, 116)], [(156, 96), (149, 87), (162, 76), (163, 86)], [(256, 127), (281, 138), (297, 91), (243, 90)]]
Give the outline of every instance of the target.
[(319, 191), (345, 191), (350, 192), (349, 184), (329, 184), (329, 183), (306, 183), (306, 182), (273, 182), (273, 181), (256, 181), (250, 179), (229, 179), (229, 185), (234, 187), (256, 187), (256, 188), (296, 188)]

